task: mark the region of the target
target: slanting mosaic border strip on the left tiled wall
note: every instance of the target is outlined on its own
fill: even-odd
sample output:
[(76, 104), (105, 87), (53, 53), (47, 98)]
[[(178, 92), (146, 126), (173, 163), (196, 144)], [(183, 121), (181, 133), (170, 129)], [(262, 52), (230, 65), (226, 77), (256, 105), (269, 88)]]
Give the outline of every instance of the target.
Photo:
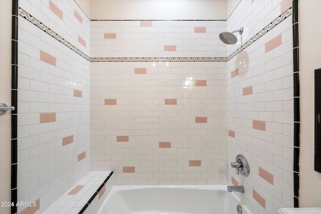
[(68, 42), (67, 40), (65, 40), (64, 38), (62, 38), (58, 34), (56, 34), (50, 28), (48, 28), (47, 26), (42, 24), (39, 20), (37, 20), (36, 18), (31, 16), (30, 14), (28, 14), (26, 11), (24, 11), (21, 8), (19, 8), (19, 15), (22, 16), (23, 18), (25, 18), (26, 20), (28, 20), (29, 22), (31, 22), (32, 24), (34, 24), (35, 26), (37, 26), (38, 28), (40, 28), (41, 30), (43, 30), (44, 32), (46, 32), (48, 35), (55, 38), (60, 43), (64, 44), (65, 46), (67, 46), (68, 48), (70, 48), (71, 50), (73, 50), (74, 52), (79, 54), (80, 56), (82, 56), (83, 58), (85, 58), (86, 60), (90, 61), (90, 57), (88, 57), (85, 53), (80, 51), (78, 48), (73, 46), (70, 42)]

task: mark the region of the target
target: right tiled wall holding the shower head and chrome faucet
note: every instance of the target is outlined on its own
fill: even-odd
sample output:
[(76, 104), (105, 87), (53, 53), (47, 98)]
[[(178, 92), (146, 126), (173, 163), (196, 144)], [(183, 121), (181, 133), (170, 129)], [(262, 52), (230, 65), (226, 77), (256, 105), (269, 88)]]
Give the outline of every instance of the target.
[[(290, 7), (291, 1), (241, 1), (227, 25), (233, 29), (264, 28), (271, 22), (271, 15), (276, 18)], [(245, 41), (250, 39), (248, 34)], [(253, 213), (276, 213), (281, 207), (293, 207), (292, 16), (241, 51), (227, 66), (229, 162), (243, 154), (251, 169), (249, 177), (244, 177), (230, 168), (229, 182), (245, 187), (240, 196)]]

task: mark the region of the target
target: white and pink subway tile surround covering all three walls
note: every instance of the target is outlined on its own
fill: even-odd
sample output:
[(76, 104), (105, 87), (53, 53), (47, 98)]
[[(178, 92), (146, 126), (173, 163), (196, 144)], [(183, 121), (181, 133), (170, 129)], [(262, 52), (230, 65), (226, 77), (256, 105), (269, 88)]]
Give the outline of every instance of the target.
[[(66, 194), (84, 172), (72, 174), (62, 168), (63, 164), (57, 166), (58, 171), (63, 173), (47, 181), (58, 184), (50, 191), (44, 181), (53, 175), (53, 171), (39, 178), (34, 175), (37, 170), (46, 170), (48, 166), (68, 159), (74, 149), (74, 158), (70, 159), (69, 165), (75, 164), (77, 170), (79, 164), (89, 164), (90, 157), (91, 169), (115, 169), (113, 176), (116, 184), (227, 184), (231, 179), (234, 185), (245, 186), (243, 201), (253, 213), (275, 213), (279, 207), (293, 206), (293, 124), (290, 119), (293, 117), (293, 102), (289, 97), (293, 89), (291, 74), (288, 74), (292, 63), (291, 50), (288, 51), (291, 31), (289, 19), (286, 19), (291, 15), (291, 9), (285, 9), (289, 1), (241, 1), (227, 22), (90, 22), (73, 1), (21, 1), (19, 4), (25, 11), (20, 10), (21, 17), (36, 25), (19, 17), (23, 28), (20, 28), (19, 34), (21, 108), (18, 118), (18, 163), (22, 165), (18, 166), (18, 200), (40, 201), (35, 210), (40, 213), (61, 194)], [(62, 11), (63, 16), (55, 7)], [(250, 10), (245, 13), (245, 8)], [(246, 23), (247, 19), (242, 16), (248, 13), (253, 13), (253, 17), (259, 13), (259, 18)], [(66, 17), (72, 18), (72, 22), (64, 22)], [(244, 35), (244, 38), (251, 39), (241, 47), (241, 44), (228, 46), (226, 52), (226, 46), (213, 38), (217, 38), (226, 28), (229, 30), (235, 19), (237, 24), (244, 22), (244, 26), (254, 26), (251, 28), (253, 31), (247, 29), (247, 35)], [(90, 25), (91, 28), (88, 27)], [(64, 29), (68, 28), (75, 29), (75, 33), (65, 32)], [(106, 32), (107, 28), (110, 32)], [(124, 38), (120, 29), (129, 30), (127, 35), (133, 38)], [(139, 32), (139, 39), (130, 29)], [(154, 34), (155, 29), (160, 32)], [(165, 30), (162, 32), (162, 29)], [(173, 33), (173, 29), (182, 29), (182, 32)], [(88, 32), (91, 32), (91, 40)], [(252, 32), (260, 33), (251, 36)], [(34, 39), (41, 42), (40, 45)], [(53, 42), (55, 39), (59, 42)], [(144, 44), (145, 41), (156, 40), (162, 40), (162, 43), (158, 46)], [(210, 40), (214, 43), (205, 45)], [(134, 45), (134, 42), (137, 44)], [(41, 44), (46, 45), (40, 48)], [(166, 46), (171, 48), (166, 51)], [(174, 46), (176, 49), (173, 49)], [(66, 50), (69, 57), (58, 50)], [(93, 58), (88, 57), (89, 53)], [(229, 57), (222, 57), (228, 53), (231, 53)], [(80, 62), (81, 68), (70, 63), (70, 59)], [(64, 64), (61, 64), (62, 61)], [(243, 62), (242, 67), (236, 66), (239, 62)], [(66, 63), (70, 63), (68, 67), (71, 69), (63, 76), (61, 69), (66, 68)], [(80, 74), (84, 76), (76, 78), (77, 81), (74, 77), (78, 77), (79, 73), (73, 74), (76, 71), (74, 68), (84, 72)], [(37, 76), (39, 71), (57, 72), (57, 81), (51, 82), (52, 76), (48, 74)], [(58, 77), (67, 80), (60, 83), (68, 82), (70, 85), (59, 85)], [(92, 118), (90, 151), (89, 134), (84, 131), (89, 129), (72, 126), (64, 118), (68, 115), (76, 124), (76, 114), (65, 113), (59, 107), (62, 104), (65, 107), (75, 105), (74, 108), (79, 109), (78, 119), (88, 121), (89, 115), (84, 116), (84, 112), (89, 112), (89, 85)], [(56, 97), (55, 102), (53, 96)], [(75, 103), (68, 102), (69, 99)], [(83, 102), (88, 108), (80, 110)], [(37, 110), (34, 110), (35, 107)], [(41, 114), (47, 113), (56, 114), (55, 121), (48, 120), (40, 126)], [(38, 122), (32, 119), (36, 114)], [(64, 127), (65, 132), (67, 128), (68, 132), (62, 134), (59, 127)], [(74, 138), (72, 141), (70, 136)], [(80, 136), (84, 139), (80, 140), (81, 143)], [(52, 141), (44, 142), (45, 139)], [(63, 151), (58, 144), (68, 150)], [(75, 147), (79, 144), (82, 148), (76, 151)], [(43, 164), (44, 157), (52, 155), (52, 149), (63, 156), (50, 156), (52, 159)], [(232, 151), (229, 156), (228, 149)], [(237, 153), (243, 153), (250, 162), (252, 171), (248, 178), (236, 175), (235, 170), (227, 167), (228, 162), (235, 161)], [(39, 167), (30, 171), (27, 168), (21, 173), (21, 168), (30, 165)], [(85, 167), (85, 170), (89, 168)], [(228, 171), (230, 177), (227, 176)], [(69, 180), (63, 182), (64, 186), (59, 184), (62, 177)], [(23, 188), (27, 185), (33, 189)], [(44, 189), (48, 192), (40, 192)], [(100, 197), (92, 201), (100, 201)], [(86, 212), (89, 210), (91, 208)]]

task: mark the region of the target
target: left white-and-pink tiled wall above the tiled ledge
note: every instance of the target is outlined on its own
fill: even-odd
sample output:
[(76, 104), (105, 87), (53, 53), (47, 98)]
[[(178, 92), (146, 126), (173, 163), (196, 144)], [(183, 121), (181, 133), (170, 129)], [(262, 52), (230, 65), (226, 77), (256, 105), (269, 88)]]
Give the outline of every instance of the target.
[(90, 21), (74, 1), (19, 7), (18, 201), (37, 205), (18, 212), (41, 213), (89, 171), (90, 63), (54, 37), (89, 54)]

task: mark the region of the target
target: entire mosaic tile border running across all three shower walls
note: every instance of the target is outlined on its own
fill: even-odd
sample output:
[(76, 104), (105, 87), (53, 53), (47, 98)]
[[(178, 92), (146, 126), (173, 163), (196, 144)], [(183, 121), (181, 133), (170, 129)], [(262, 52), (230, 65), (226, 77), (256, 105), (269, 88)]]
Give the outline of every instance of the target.
[(49, 29), (47, 26), (42, 24), (39, 20), (31, 16), (21, 8), (19, 8), (19, 15), (90, 62), (227, 62), (233, 57), (235, 57), (238, 53), (240, 53), (241, 51), (249, 47), (252, 43), (258, 40), (264, 34), (269, 32), (276, 25), (280, 24), (287, 17), (292, 15), (292, 7), (290, 7), (283, 14), (281, 14), (279, 17), (273, 20), (263, 30), (257, 33), (254, 37), (248, 40), (244, 45), (242, 45), (240, 48), (238, 48), (228, 57), (172, 57), (172, 58), (169, 58), (169, 57), (115, 57), (115, 58), (97, 57), (97, 58), (90, 58), (89, 56), (84, 54), (82, 51), (77, 49), (71, 43), (66, 41), (64, 38), (56, 34), (54, 31)]

